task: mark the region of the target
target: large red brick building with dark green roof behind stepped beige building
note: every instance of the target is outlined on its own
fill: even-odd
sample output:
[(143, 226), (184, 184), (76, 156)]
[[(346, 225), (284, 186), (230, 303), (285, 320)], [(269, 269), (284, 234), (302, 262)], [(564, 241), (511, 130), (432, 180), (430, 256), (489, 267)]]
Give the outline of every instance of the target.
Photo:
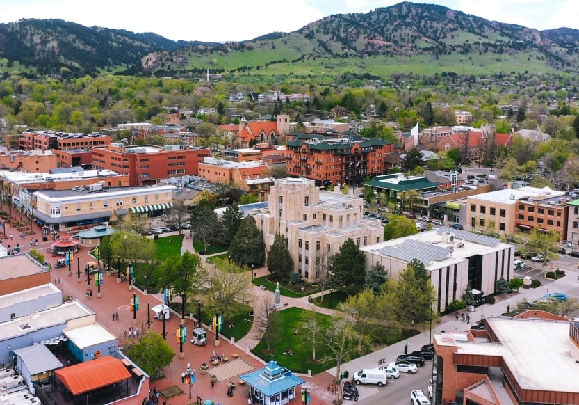
[(288, 177), (316, 180), (318, 186), (359, 184), (366, 176), (381, 175), (384, 157), (395, 149), (393, 143), (375, 138), (324, 139), (312, 134), (297, 135), (286, 148)]

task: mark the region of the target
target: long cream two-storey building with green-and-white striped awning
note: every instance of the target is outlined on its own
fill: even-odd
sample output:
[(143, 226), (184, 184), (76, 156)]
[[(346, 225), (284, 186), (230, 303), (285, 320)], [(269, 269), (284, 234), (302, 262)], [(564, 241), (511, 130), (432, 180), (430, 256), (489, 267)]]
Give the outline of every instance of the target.
[(119, 221), (128, 212), (158, 215), (173, 204), (174, 186), (103, 189), (98, 185), (85, 191), (35, 191), (31, 193), (32, 215), (51, 230), (69, 232)]

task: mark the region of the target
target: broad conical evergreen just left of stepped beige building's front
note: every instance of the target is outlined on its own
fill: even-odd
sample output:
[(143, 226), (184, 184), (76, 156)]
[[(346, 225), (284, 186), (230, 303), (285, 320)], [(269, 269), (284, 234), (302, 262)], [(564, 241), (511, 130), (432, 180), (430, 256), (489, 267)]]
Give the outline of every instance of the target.
[(266, 244), (263, 243), (263, 234), (257, 228), (252, 216), (241, 220), (239, 230), (231, 241), (229, 251), (231, 260), (238, 264), (261, 266), (266, 256)]

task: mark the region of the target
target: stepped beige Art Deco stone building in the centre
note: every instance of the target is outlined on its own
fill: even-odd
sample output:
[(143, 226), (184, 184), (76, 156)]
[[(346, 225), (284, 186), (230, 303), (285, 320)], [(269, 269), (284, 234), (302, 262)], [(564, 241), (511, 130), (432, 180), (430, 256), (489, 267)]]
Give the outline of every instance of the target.
[(320, 262), (337, 253), (348, 238), (363, 248), (384, 237), (379, 220), (364, 218), (364, 200), (320, 191), (309, 179), (275, 180), (268, 209), (249, 214), (268, 248), (276, 234), (286, 237), (295, 271), (311, 282), (320, 277)]

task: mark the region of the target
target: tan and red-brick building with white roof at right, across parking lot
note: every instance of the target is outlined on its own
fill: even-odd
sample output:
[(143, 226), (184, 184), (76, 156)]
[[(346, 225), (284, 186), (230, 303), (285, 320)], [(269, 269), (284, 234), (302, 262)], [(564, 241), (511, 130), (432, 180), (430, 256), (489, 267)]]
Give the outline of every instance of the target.
[(564, 191), (544, 187), (519, 187), (467, 197), (466, 228), (513, 233), (517, 228), (559, 232), (566, 237), (567, 213)]

